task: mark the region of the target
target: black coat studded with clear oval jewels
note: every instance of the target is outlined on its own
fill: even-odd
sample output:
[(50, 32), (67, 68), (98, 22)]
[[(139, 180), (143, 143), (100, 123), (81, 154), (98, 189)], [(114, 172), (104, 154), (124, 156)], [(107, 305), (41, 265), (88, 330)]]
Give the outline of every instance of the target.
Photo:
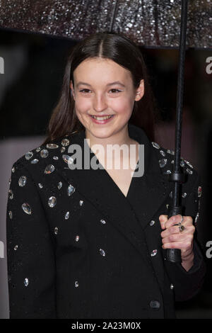
[[(69, 169), (63, 155), (72, 144), (83, 149), (84, 131), (52, 142), (57, 148), (33, 149), (33, 157), (13, 164), (7, 205), (11, 318), (173, 318), (175, 300), (199, 292), (206, 266), (197, 241), (189, 271), (165, 260), (161, 247), (158, 217), (172, 200), (172, 152), (156, 147), (134, 125), (129, 136), (144, 145), (145, 169), (132, 178), (126, 197), (105, 169)], [(40, 156), (42, 149), (47, 157)], [(163, 167), (161, 159), (167, 160)], [(54, 171), (46, 174), (49, 164)], [(183, 215), (197, 220), (199, 175), (184, 164)]]

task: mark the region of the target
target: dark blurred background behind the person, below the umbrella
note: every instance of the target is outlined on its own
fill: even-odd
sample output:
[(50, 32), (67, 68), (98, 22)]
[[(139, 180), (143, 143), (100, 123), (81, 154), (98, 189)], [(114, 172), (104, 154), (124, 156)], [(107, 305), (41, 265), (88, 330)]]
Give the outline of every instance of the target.
[[(59, 98), (66, 56), (75, 44), (66, 38), (0, 30), (0, 318), (8, 318), (5, 235), (11, 166), (44, 140), (47, 123)], [(155, 142), (175, 149), (178, 50), (140, 49), (161, 116)], [(186, 52), (182, 120), (182, 157), (192, 163), (202, 178), (197, 231), (208, 273), (199, 295), (176, 303), (179, 318), (212, 318), (212, 74), (206, 72), (208, 57), (212, 57), (210, 50), (189, 48)]]

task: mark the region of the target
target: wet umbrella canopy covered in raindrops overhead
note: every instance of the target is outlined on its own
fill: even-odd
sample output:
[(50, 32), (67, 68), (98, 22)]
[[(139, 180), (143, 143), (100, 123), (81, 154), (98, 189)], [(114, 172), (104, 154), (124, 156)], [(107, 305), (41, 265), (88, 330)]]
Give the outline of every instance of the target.
[[(211, 2), (189, 1), (187, 47), (212, 47)], [(0, 27), (71, 40), (110, 30), (144, 47), (178, 48), (181, 4), (181, 0), (0, 0)]]

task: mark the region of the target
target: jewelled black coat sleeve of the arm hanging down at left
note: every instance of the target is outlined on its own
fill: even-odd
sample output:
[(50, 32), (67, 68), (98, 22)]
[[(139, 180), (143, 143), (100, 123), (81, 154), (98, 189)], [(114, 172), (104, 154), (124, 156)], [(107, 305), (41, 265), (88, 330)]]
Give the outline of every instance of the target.
[(10, 318), (56, 318), (54, 243), (37, 184), (16, 162), (6, 209)]

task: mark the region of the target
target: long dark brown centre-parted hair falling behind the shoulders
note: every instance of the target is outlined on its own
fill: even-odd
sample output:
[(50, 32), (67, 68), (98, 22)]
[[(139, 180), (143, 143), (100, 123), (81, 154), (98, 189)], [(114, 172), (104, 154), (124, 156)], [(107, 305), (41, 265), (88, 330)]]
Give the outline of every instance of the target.
[[(141, 79), (144, 80), (144, 95), (140, 101), (135, 101), (134, 110), (129, 119), (132, 123), (146, 132), (151, 141), (154, 141), (154, 125), (158, 120), (158, 108), (151, 89), (148, 71), (143, 55), (136, 44), (120, 33), (102, 32), (89, 35), (71, 49), (66, 63), (64, 80), (57, 106), (47, 127), (47, 138), (43, 145), (63, 135), (71, 135), (84, 129), (75, 112), (75, 101), (71, 94), (70, 81), (73, 81), (73, 71), (83, 60), (93, 57), (103, 57), (131, 72), (134, 88), (139, 87)], [(74, 81), (73, 81), (74, 87)]]

